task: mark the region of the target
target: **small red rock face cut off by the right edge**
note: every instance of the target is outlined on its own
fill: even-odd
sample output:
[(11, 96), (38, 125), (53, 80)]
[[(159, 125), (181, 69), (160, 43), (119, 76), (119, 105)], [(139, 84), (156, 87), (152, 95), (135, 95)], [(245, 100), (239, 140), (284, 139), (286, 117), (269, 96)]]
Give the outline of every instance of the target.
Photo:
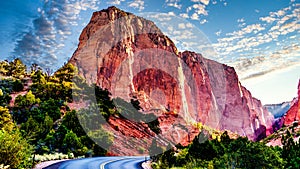
[(291, 103), (291, 108), (287, 111), (284, 116), (284, 125), (291, 125), (294, 121), (300, 120), (300, 79), (298, 83), (298, 97), (294, 98)]

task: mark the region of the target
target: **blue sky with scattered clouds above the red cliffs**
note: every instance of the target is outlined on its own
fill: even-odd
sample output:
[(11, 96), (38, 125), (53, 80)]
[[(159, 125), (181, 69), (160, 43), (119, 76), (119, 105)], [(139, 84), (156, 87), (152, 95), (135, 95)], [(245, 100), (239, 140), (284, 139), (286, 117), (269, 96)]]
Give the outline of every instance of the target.
[(299, 0), (2, 0), (0, 57), (55, 70), (72, 56), (92, 12), (111, 5), (155, 21), (180, 50), (235, 67), (264, 104), (297, 94)]

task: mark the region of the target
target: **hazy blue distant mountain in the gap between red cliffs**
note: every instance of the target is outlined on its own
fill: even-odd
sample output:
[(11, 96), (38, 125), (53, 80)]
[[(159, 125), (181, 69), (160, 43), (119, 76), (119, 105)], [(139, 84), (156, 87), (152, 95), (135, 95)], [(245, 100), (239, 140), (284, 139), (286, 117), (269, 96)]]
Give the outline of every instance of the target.
[(266, 104), (265, 108), (273, 114), (275, 118), (281, 118), (290, 109), (291, 102), (283, 102), (279, 104)]

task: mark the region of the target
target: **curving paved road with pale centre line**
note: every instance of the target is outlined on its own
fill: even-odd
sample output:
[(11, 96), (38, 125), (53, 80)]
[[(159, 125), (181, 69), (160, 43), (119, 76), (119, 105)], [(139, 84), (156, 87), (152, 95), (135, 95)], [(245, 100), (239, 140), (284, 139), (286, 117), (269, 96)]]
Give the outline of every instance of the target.
[(94, 157), (68, 160), (45, 169), (142, 169), (145, 157)]

